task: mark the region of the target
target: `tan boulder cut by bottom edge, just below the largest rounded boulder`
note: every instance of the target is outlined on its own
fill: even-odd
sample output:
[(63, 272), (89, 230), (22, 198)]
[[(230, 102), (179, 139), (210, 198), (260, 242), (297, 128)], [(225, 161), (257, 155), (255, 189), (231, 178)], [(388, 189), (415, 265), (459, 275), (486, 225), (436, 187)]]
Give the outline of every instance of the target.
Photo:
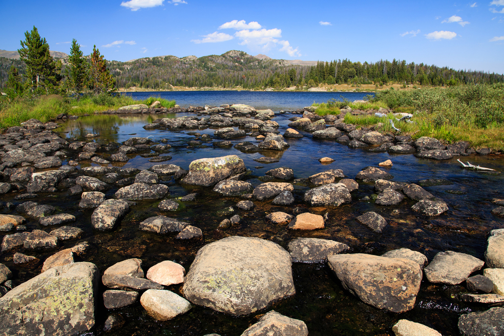
[(308, 336), (308, 328), (301, 320), (291, 319), (271, 310), (241, 334), (241, 336), (266, 335)]

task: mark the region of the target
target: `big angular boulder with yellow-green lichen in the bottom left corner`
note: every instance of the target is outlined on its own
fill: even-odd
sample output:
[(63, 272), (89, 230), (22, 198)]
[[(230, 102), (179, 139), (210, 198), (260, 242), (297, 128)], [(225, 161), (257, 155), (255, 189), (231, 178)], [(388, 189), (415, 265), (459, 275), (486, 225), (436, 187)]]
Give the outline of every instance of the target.
[(95, 324), (98, 268), (88, 262), (51, 268), (0, 298), (0, 333), (74, 335)]

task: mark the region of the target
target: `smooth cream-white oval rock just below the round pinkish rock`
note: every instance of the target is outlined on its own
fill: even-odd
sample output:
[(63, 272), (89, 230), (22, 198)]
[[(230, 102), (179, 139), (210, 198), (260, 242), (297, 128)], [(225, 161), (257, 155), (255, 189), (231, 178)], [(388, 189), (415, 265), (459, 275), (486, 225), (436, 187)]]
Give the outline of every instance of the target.
[(191, 309), (191, 303), (170, 290), (149, 289), (140, 297), (140, 303), (155, 320), (167, 321)]

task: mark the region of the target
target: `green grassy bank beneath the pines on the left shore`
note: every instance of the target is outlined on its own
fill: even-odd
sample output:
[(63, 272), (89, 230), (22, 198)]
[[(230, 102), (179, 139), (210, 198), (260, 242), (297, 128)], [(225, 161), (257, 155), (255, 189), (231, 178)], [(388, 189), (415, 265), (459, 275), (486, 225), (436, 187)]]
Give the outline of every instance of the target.
[(58, 95), (29, 97), (4, 101), (0, 106), (0, 129), (18, 126), (20, 123), (35, 118), (47, 122), (56, 118), (58, 114), (85, 115), (100, 111), (117, 110), (122, 106), (132, 104), (146, 104), (151, 106), (158, 100), (158, 107), (172, 108), (175, 100), (166, 100), (159, 97), (149, 97), (145, 100), (133, 100), (123, 95), (96, 95), (85, 96), (80, 99), (62, 97)]

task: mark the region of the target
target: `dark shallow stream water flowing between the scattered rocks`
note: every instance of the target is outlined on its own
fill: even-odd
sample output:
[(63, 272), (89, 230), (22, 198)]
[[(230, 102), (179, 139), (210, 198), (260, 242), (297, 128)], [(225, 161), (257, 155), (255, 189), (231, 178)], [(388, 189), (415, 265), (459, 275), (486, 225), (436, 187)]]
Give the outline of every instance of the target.
[[(229, 101), (247, 103), (234, 98), (225, 99), (225, 102)], [(213, 104), (212, 102), (206, 103)], [(188, 102), (188, 104), (198, 105), (200, 103)], [(289, 104), (292, 103), (285, 102), (286, 106)], [(307, 104), (309, 103), (302, 103), (299, 106), (293, 106), (293, 108), (303, 107)], [(180, 115), (167, 115), (167, 117), (178, 116)], [(250, 170), (250, 175), (246, 177), (246, 180), (254, 186), (262, 183), (260, 179), (266, 171), (282, 166), (293, 169), (295, 178), (308, 177), (329, 169), (341, 169), (347, 177), (355, 178), (355, 175), (364, 167), (377, 166), (379, 162), (391, 159), (393, 166), (386, 170), (394, 176), (393, 181), (416, 183), (418, 180), (427, 178), (441, 178), (450, 181), (451, 185), (426, 187), (427, 191), (447, 202), (449, 211), (434, 218), (419, 216), (411, 212), (410, 207), (415, 202), (408, 199), (396, 206), (374, 205), (372, 201), (363, 200), (364, 197), (371, 196), (374, 192), (373, 185), (366, 183), (361, 183), (359, 190), (352, 192), (352, 203), (349, 205), (337, 208), (311, 207), (302, 201), (303, 194), (308, 190), (308, 187), (295, 185), (296, 202), (294, 206), (281, 207), (272, 205), (271, 201), (254, 201), (256, 206), (251, 211), (236, 209), (235, 214), (242, 217), (242, 222), (239, 225), (232, 226), (227, 230), (218, 230), (219, 223), (230, 217), (230, 215), (223, 215), (222, 210), (234, 206), (241, 198), (221, 197), (214, 193), (210, 187), (182, 185), (173, 179), (168, 179), (163, 183), (169, 185), (171, 198), (198, 193), (196, 201), (184, 202), (184, 207), (174, 213), (159, 211), (157, 208), (159, 201), (139, 201), (136, 206), (132, 206), (131, 212), (112, 232), (99, 233), (93, 232), (91, 228), (92, 210), (78, 208), (80, 196), (64, 199), (63, 193), (54, 193), (41, 195), (34, 199), (34, 201), (43, 204), (55, 205), (61, 212), (76, 214), (78, 220), (72, 225), (85, 230), (86, 235), (81, 240), (86, 240), (91, 244), (90, 253), (84, 256), (83, 260), (95, 263), (101, 272), (112, 264), (128, 258), (142, 259), (145, 271), (163, 260), (178, 262), (188, 270), (199, 248), (233, 235), (268, 239), (284, 248), (289, 241), (297, 237), (313, 237), (346, 243), (350, 245), (351, 253), (381, 255), (391, 249), (407, 247), (424, 253), (429, 261), (439, 251), (446, 250), (468, 253), (484, 260), (488, 232), (491, 229), (504, 227), (503, 220), (491, 214), (491, 210), (496, 207), (491, 203), (491, 200), (504, 198), (503, 176), (463, 170), (456, 162), (456, 158), (447, 161), (434, 161), (417, 159), (412, 155), (367, 153), (361, 149), (349, 149), (334, 141), (313, 140), (311, 134), (302, 132), (305, 135), (304, 138), (287, 140), (290, 144), (287, 150), (265, 153), (266, 156), (280, 159), (278, 163), (264, 164), (254, 161), (254, 159), (263, 156), (259, 153), (245, 154), (234, 148), (221, 149), (214, 147), (212, 142), (203, 143), (198, 147), (188, 146), (187, 141), (197, 138), (194, 135), (188, 135), (187, 133), (190, 131), (145, 131), (142, 128), (144, 124), (157, 117), (160, 116), (92, 116), (68, 121), (59, 131), (64, 137), (77, 139), (83, 139), (83, 136), (88, 133), (96, 133), (100, 135), (96, 141), (101, 143), (122, 142), (132, 136), (149, 136), (154, 141), (167, 139), (168, 143), (172, 145), (172, 151), (168, 154), (173, 158), (161, 163), (176, 164), (183, 169), (188, 169), (191, 161), (195, 159), (235, 154), (243, 159), (245, 166)], [(273, 119), (280, 124), (281, 134), (287, 128), (289, 117), (291, 117), (290, 114), (285, 114), (277, 115)], [(196, 130), (195, 132), (213, 135), (214, 130)], [(232, 140), (234, 143), (242, 141), (257, 143), (257, 140), (252, 137)], [(323, 165), (318, 159), (325, 156), (329, 156), (335, 161)], [(159, 164), (151, 163), (147, 158), (141, 156), (129, 155), (129, 157), (130, 160), (127, 163), (119, 165), (148, 169), (154, 164)], [(504, 169), (502, 156), (471, 156), (462, 159), (498, 171)], [(117, 188), (113, 188), (108, 191), (107, 197), (112, 198), (116, 190)], [(452, 191), (464, 192), (465, 194), (454, 194)], [(2, 200), (12, 200), (12, 196), (9, 197), (10, 199), (7, 199), (6, 196), (3, 196)], [(271, 212), (283, 211), (292, 214), (293, 208), (296, 206), (303, 208), (303, 212), (307, 210), (314, 214), (327, 214), (329, 219), (326, 221), (326, 227), (321, 230), (303, 232), (288, 230), (285, 226), (271, 225), (265, 221), (265, 216)], [(355, 217), (367, 211), (379, 213), (388, 220), (389, 225), (382, 234), (373, 233), (354, 220)], [(4, 213), (8, 212), (4, 210)], [(175, 217), (201, 228), (203, 239), (182, 242), (174, 239), (175, 233), (163, 236), (142, 232), (138, 229), (138, 224), (142, 220), (157, 215)], [(30, 229), (38, 228), (38, 223), (30, 221), (28, 226)], [(63, 247), (71, 247), (75, 243), (76, 241), (65, 242)], [(54, 251), (46, 251), (30, 254), (45, 260), (53, 253)], [(16, 281), (26, 281), (40, 272), (40, 266), (34, 270), (14, 266), (11, 254), (3, 255), (1, 258), (2, 263), (14, 270), (17, 276)], [(341, 283), (326, 264), (295, 263), (292, 269), (296, 295), (282, 299), (251, 316), (230, 317), (210, 309), (193, 306), (188, 313), (171, 321), (157, 322), (150, 318), (137, 303), (117, 311), (107, 311), (101, 308), (97, 314), (96, 328), (87, 334), (204, 335), (215, 332), (234, 336), (240, 335), (249, 325), (257, 322), (260, 314), (275, 309), (286, 316), (304, 321), (310, 335), (391, 335), (393, 334), (392, 325), (400, 319), (426, 324), (444, 335), (458, 335), (457, 321), (461, 313), (485, 309), (485, 307), (466, 304), (457, 299), (457, 295), (465, 291), (463, 285), (434, 285), (424, 280), (413, 310), (401, 314), (386, 312), (366, 305), (350, 295), (342, 288)], [(104, 289), (101, 288), (101, 290)], [(181, 293), (180, 285), (172, 286), (169, 289)], [(120, 313), (125, 319), (125, 324), (120, 330), (103, 332), (103, 323), (111, 313)]]

